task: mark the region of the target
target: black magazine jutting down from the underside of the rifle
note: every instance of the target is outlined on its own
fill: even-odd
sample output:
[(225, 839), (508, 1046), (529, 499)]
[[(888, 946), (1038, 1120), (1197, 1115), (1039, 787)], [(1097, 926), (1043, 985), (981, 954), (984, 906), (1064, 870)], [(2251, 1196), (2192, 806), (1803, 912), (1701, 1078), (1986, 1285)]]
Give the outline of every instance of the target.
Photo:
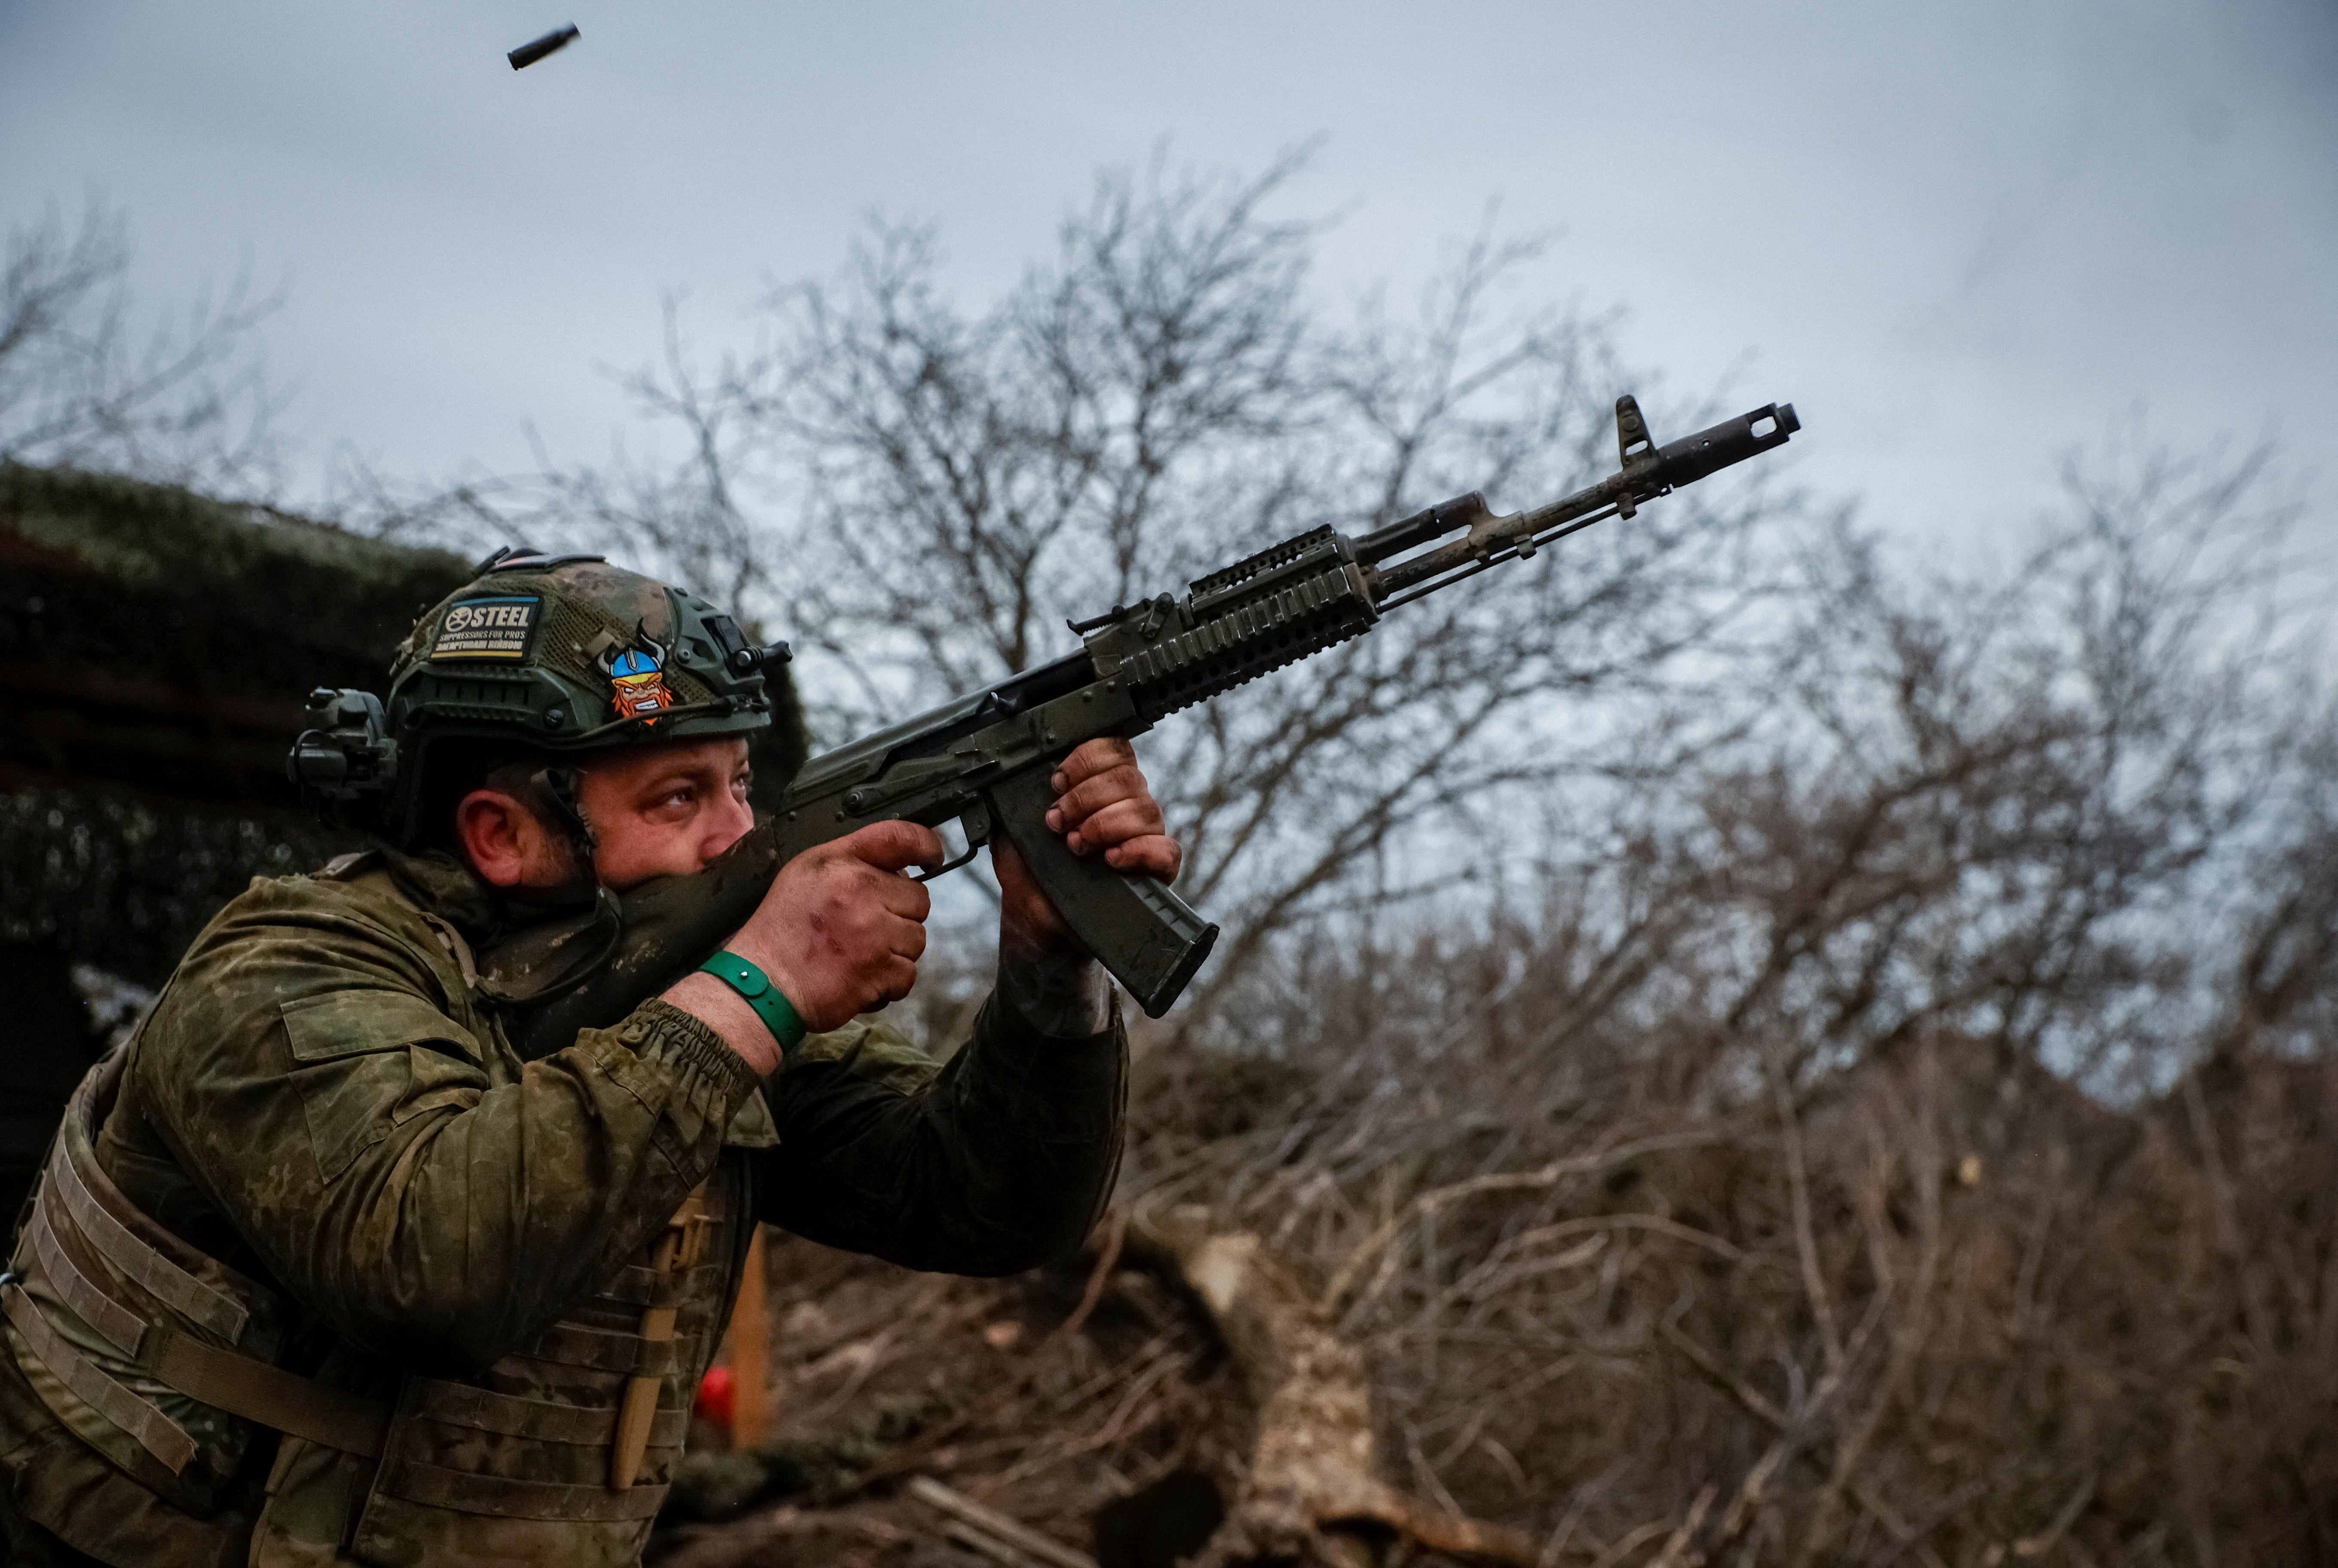
[(1104, 855), (1073, 855), (1047, 827), (1052, 769), (1015, 773), (987, 790), (994, 832), (1024, 858), (1047, 902), (1113, 972), (1146, 1017), (1162, 1017), (1209, 958), (1218, 928), (1150, 876), (1122, 876)]

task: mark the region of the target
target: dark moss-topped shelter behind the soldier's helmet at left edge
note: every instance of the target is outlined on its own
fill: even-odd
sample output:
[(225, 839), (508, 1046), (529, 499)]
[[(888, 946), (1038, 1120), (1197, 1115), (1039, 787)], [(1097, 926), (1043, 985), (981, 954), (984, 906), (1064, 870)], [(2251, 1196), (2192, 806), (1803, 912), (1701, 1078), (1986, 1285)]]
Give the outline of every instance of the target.
[(154, 984), (250, 876), (344, 839), (283, 778), (313, 685), (379, 685), (444, 551), (0, 465), (0, 942)]

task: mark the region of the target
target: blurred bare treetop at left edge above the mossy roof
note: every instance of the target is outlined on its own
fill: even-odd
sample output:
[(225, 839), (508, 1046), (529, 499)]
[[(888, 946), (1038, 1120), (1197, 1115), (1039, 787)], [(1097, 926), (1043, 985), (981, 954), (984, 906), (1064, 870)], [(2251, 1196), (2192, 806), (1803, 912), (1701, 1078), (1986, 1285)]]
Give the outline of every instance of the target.
[(278, 294), (238, 273), (178, 320), (140, 327), (129, 224), (91, 201), (9, 229), (0, 262), (0, 458), (63, 463), (267, 500), (276, 397), (257, 329)]

